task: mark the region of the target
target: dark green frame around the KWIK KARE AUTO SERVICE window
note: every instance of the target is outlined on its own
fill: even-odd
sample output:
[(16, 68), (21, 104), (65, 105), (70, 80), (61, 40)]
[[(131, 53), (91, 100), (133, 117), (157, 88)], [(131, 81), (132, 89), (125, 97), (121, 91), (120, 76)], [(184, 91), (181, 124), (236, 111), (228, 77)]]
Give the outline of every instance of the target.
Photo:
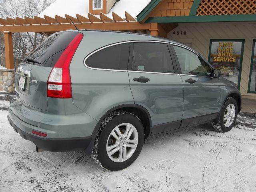
[(239, 64), (239, 74), (238, 74), (238, 84), (237, 84), (237, 88), (238, 88), (238, 90), (240, 90), (240, 82), (241, 82), (241, 74), (242, 74), (242, 64), (243, 64), (243, 58), (244, 58), (244, 39), (210, 39), (210, 48), (209, 48), (209, 54), (208, 54), (208, 61), (209, 62), (210, 62), (211, 51), (212, 51), (212, 42), (218, 42), (218, 41), (242, 42), (240, 64)]

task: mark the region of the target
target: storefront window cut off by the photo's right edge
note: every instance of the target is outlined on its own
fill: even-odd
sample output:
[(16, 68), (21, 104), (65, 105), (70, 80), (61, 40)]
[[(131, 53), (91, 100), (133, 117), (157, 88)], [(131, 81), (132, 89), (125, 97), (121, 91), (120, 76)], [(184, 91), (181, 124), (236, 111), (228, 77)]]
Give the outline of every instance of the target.
[(252, 63), (250, 68), (250, 78), (249, 78), (249, 93), (256, 93), (256, 40), (253, 41), (252, 46)]

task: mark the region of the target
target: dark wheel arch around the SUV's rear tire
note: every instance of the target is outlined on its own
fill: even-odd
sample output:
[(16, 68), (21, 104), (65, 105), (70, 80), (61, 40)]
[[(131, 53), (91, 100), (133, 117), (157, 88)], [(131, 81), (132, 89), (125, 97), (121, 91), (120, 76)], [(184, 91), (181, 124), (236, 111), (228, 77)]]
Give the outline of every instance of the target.
[(96, 126), (94, 128), (94, 131), (92, 132), (92, 136), (91, 136), (92, 140), (91, 140), (89, 146), (85, 149), (86, 154), (88, 154), (88, 155), (92, 154), (92, 148), (94, 146), (94, 141), (95, 141), (96, 135), (98, 134), (98, 130), (100, 128), (101, 122), (108, 116), (108, 114), (110, 114), (111, 112), (117, 111), (117, 110), (127, 111), (127, 112), (130, 112), (130, 113), (136, 115), (143, 124), (144, 131), (145, 131), (145, 138), (150, 136), (152, 127), (151, 127), (151, 116), (150, 116), (148, 110), (146, 110), (146, 108), (144, 108), (143, 106), (138, 105), (138, 104), (119, 105), (119, 106), (116, 106), (116, 107), (108, 110), (100, 118), (100, 120), (98, 121), (98, 123), (96, 124)]

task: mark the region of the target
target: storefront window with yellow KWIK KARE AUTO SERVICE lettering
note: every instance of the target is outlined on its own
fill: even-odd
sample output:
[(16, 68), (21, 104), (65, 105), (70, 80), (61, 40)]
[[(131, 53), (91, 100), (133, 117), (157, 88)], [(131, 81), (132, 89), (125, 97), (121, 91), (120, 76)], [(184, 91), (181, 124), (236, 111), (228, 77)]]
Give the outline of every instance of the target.
[(240, 86), (244, 40), (211, 40), (209, 61), (222, 77)]

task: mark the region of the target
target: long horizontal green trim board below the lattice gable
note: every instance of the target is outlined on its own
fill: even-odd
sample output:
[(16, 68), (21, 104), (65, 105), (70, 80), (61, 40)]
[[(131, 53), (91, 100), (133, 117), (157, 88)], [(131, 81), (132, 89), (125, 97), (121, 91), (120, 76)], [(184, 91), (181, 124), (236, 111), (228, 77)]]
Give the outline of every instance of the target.
[(242, 22), (256, 21), (256, 14), (150, 17), (145, 23)]

